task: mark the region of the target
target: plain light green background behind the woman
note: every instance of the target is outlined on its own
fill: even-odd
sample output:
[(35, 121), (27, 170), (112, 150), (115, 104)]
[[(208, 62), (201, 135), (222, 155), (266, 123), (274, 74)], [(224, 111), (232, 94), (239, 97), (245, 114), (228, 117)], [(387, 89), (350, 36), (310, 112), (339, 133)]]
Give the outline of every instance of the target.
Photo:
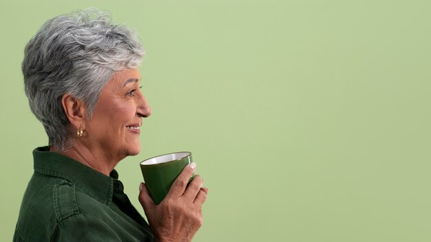
[[(23, 48), (95, 6), (136, 29), (152, 108), (142, 152), (191, 151), (209, 197), (195, 241), (431, 241), (430, 1), (1, 1), (1, 226), (47, 144)], [(139, 208), (142, 212), (142, 208)]]

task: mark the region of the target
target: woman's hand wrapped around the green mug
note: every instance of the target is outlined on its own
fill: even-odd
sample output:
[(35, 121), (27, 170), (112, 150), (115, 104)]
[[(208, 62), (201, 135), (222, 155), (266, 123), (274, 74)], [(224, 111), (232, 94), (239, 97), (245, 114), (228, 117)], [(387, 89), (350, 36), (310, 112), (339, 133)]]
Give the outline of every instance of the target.
[(191, 241), (202, 225), (201, 208), (207, 199), (208, 189), (202, 188), (203, 179), (199, 175), (187, 186), (195, 169), (194, 162), (186, 166), (158, 205), (149, 197), (145, 184), (140, 184), (139, 201), (157, 241)]

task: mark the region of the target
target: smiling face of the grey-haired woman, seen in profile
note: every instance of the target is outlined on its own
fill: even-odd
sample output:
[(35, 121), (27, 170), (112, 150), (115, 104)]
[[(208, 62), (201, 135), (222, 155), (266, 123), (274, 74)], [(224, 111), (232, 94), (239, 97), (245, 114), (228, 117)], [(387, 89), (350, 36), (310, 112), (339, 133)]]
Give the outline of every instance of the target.
[(139, 83), (138, 69), (123, 69), (103, 87), (92, 118), (85, 125), (90, 151), (100, 150), (118, 160), (139, 153), (142, 118), (151, 115)]

